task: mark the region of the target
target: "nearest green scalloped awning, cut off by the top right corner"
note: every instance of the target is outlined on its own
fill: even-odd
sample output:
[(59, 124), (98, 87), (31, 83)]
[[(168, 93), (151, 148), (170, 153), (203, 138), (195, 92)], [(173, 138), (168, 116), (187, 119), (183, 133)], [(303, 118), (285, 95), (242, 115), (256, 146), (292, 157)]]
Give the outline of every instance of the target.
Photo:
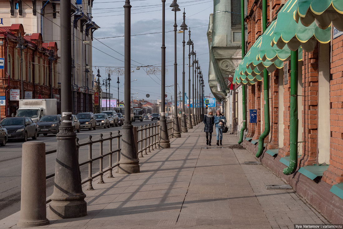
[(295, 4), (295, 20), (309, 26), (314, 21), (320, 29), (327, 29), (331, 22), (343, 31), (342, 0), (298, 0)]

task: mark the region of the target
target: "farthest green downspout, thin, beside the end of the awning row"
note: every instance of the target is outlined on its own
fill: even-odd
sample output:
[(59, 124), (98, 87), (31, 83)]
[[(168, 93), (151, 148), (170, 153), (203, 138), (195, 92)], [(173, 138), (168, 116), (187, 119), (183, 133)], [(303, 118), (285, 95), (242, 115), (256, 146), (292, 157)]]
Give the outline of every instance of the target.
[[(240, 20), (242, 30), (242, 59), (245, 56), (245, 22), (244, 22), (244, 0), (240, 0)], [(246, 105), (246, 94), (245, 85), (242, 85), (242, 111), (243, 111), (243, 126), (240, 129), (238, 144), (243, 142), (244, 131), (247, 128), (247, 105)]]

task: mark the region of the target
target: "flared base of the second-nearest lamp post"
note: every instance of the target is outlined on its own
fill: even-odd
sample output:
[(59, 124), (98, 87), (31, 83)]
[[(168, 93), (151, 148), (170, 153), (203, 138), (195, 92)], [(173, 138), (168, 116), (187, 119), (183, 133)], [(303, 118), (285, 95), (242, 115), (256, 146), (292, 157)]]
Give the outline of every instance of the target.
[(137, 145), (133, 140), (133, 126), (131, 121), (124, 121), (122, 126), (121, 155), (119, 160), (119, 174), (139, 173), (139, 160), (136, 153)]

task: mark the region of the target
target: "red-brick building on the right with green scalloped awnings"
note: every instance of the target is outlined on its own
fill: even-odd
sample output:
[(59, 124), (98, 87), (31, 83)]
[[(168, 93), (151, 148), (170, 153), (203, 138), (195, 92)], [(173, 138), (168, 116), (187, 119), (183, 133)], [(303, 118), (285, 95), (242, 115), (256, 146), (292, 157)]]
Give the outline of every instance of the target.
[[(267, 0), (267, 29), (263, 31), (262, 0), (247, 1), (247, 51), (233, 80), (238, 86), (234, 89), (236, 93), (246, 85), (247, 129), (243, 145), (253, 154), (258, 153), (260, 146), (262, 156), (258, 160), (264, 166), (291, 185), (332, 223), (342, 223), (343, 36), (330, 26), (334, 16), (342, 19), (342, 14), (335, 12), (332, 6), (311, 14), (308, 12), (316, 11), (316, 7), (309, 9), (308, 6), (299, 7), (306, 13), (297, 16), (300, 4), (307, 3)], [(324, 9), (329, 12), (323, 13)], [(330, 20), (324, 20), (328, 19), (328, 14), (331, 14)], [(301, 18), (304, 15), (305, 18)], [(316, 23), (317, 16), (313, 15), (320, 15)], [(263, 69), (267, 69), (267, 92), (264, 92)], [(239, 120), (242, 119), (242, 100), (238, 96)], [(270, 112), (269, 120), (266, 108)], [(250, 123), (249, 110), (257, 111), (256, 123)], [(261, 135), (266, 126), (270, 131), (263, 140)], [(239, 131), (235, 134), (239, 135)], [(291, 152), (297, 157), (296, 169), (285, 175), (284, 169), (294, 162)]]

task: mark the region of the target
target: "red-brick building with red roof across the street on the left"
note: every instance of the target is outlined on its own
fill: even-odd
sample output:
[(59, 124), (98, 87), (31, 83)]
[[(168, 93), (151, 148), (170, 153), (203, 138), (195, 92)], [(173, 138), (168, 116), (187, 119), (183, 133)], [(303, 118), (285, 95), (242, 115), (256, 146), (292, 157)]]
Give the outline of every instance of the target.
[[(22, 81), (23, 94), (29, 95), (26, 98), (31, 98), (31, 95), (33, 99), (51, 98), (51, 96), (59, 98), (56, 77), (59, 57), (56, 42), (44, 43), (40, 33), (28, 36), (24, 34), (22, 24), (0, 27), (0, 56), (4, 58), (4, 69), (0, 69), (0, 96), (6, 96), (5, 106), (0, 107), (1, 119), (10, 117), (16, 112), (19, 101), (10, 100), (10, 89), (21, 90)], [(16, 48), (18, 36), (23, 37), (25, 46), (22, 50), (22, 68), (20, 48)], [(54, 60), (50, 60), (49, 56), (54, 57)]]

